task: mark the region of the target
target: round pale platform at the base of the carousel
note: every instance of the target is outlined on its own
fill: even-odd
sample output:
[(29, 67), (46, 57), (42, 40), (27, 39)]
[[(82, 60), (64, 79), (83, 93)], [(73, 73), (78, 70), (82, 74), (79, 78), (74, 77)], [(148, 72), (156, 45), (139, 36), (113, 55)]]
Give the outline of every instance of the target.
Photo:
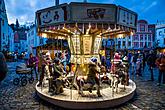
[(67, 88), (64, 88), (63, 93), (51, 96), (51, 93), (48, 92), (48, 87), (37, 87), (37, 84), (37, 95), (41, 99), (69, 109), (100, 109), (115, 107), (132, 99), (136, 90), (136, 84), (132, 80), (129, 80), (129, 86), (126, 86), (126, 89), (124, 89), (123, 85), (119, 84), (118, 92), (113, 92), (110, 87), (101, 89), (102, 97), (97, 96), (96, 90), (93, 90), (92, 93), (84, 91), (84, 96), (81, 96), (78, 94), (77, 90)]

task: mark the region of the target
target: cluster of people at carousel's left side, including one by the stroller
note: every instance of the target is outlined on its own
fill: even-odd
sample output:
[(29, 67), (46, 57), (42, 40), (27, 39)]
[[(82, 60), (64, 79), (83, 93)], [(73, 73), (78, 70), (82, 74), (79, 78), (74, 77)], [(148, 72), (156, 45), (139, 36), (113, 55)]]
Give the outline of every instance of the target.
[[(27, 61), (27, 67), (33, 68), (36, 75), (36, 80), (39, 80), (39, 85), (42, 85), (45, 76), (51, 76), (53, 79), (61, 78), (64, 74), (69, 71), (67, 65), (69, 64), (68, 52), (57, 52), (54, 59), (48, 51), (33, 56), (31, 53)], [(39, 72), (39, 63), (41, 64), (41, 71)]]

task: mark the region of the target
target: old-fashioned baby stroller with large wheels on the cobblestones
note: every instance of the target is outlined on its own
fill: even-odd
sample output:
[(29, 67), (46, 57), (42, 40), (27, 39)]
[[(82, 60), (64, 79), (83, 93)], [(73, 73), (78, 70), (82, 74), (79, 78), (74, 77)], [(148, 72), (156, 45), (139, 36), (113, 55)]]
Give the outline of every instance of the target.
[(33, 68), (28, 68), (24, 63), (22, 63), (19, 66), (16, 66), (16, 74), (18, 74), (19, 77), (13, 80), (14, 85), (19, 85), (20, 83), (22, 86), (25, 86), (28, 83), (28, 81), (30, 84), (32, 84), (34, 81)]

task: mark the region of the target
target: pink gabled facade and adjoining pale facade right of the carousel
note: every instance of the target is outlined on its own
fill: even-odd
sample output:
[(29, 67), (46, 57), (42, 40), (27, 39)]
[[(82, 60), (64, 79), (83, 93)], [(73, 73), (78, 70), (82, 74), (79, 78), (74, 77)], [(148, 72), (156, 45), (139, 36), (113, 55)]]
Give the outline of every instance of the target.
[(151, 49), (155, 41), (155, 25), (149, 25), (147, 21), (139, 20), (136, 33), (125, 36), (121, 34), (115, 39), (116, 49)]

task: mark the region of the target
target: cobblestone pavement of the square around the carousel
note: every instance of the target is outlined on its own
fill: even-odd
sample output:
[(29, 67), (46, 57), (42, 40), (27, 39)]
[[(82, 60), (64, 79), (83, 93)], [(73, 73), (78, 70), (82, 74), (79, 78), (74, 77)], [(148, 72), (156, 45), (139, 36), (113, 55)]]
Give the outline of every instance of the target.
[[(36, 96), (34, 87), (37, 81), (24, 87), (13, 85), (13, 79), (18, 77), (15, 73), (18, 64), (8, 63), (8, 75), (0, 84), (0, 110), (63, 110)], [(155, 81), (147, 81), (150, 74), (146, 67), (143, 77), (132, 78), (137, 85), (134, 98), (123, 105), (105, 110), (165, 110), (165, 86), (157, 86), (158, 70), (155, 69), (154, 74)]]

